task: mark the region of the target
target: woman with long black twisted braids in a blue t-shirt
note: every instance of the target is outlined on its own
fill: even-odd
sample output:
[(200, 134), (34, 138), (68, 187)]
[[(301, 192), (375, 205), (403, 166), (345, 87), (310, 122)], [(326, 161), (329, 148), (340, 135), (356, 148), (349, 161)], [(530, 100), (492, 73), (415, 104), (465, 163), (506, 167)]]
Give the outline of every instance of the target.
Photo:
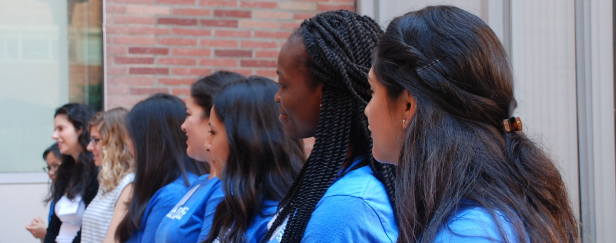
[(262, 242), (394, 242), (393, 170), (373, 161), (363, 109), (383, 31), (346, 10), (304, 20), (278, 55), (280, 121), (314, 149)]

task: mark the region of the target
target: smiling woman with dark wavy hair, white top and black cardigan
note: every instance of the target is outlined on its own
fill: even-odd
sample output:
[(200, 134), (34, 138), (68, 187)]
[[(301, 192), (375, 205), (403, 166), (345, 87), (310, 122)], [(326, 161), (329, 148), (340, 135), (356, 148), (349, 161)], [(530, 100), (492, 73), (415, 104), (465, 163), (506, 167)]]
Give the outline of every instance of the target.
[(63, 161), (51, 190), (54, 214), (45, 236), (46, 243), (81, 242), (81, 218), (87, 205), (99, 190), (97, 167), (92, 153), (86, 150), (90, 142), (87, 123), (94, 110), (84, 104), (65, 104), (55, 110), (54, 134)]

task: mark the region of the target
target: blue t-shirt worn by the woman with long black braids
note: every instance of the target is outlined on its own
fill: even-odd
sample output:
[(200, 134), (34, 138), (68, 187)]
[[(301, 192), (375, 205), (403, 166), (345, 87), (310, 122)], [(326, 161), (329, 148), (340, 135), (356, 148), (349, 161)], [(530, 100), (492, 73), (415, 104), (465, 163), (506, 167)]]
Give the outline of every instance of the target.
[[(361, 160), (356, 158), (349, 168)], [(268, 242), (280, 242), (286, 220)], [(363, 166), (327, 189), (312, 212), (301, 242), (393, 243), (397, 238), (398, 226), (387, 191), (370, 166)]]

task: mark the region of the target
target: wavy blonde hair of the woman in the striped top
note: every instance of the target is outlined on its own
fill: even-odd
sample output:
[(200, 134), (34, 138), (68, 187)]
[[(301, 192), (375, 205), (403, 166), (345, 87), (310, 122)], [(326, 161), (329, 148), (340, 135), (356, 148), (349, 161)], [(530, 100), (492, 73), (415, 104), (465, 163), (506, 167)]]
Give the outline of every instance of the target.
[(98, 112), (92, 117), (89, 129), (96, 127), (102, 136), (103, 158), (100, 164), (99, 187), (112, 191), (133, 171), (135, 160), (129, 149), (129, 136), (124, 119), (128, 110), (118, 107)]

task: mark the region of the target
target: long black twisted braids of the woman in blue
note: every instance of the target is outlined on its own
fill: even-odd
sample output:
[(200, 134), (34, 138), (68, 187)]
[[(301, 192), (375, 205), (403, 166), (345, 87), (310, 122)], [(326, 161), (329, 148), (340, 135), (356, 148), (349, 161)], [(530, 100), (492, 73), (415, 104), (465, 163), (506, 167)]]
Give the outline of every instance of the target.
[(363, 114), (370, 100), (371, 55), (381, 34), (374, 20), (346, 10), (319, 13), (304, 20), (293, 34), (301, 35), (309, 55), (307, 66), (315, 82), (323, 83), (322, 108), (312, 153), (278, 206), (278, 216), (262, 242), (288, 216), (282, 242), (301, 241), (318, 201), (346, 162), (349, 142), (352, 158), (365, 158), (349, 171), (369, 164), (394, 206), (394, 167), (373, 160), (368, 120)]

